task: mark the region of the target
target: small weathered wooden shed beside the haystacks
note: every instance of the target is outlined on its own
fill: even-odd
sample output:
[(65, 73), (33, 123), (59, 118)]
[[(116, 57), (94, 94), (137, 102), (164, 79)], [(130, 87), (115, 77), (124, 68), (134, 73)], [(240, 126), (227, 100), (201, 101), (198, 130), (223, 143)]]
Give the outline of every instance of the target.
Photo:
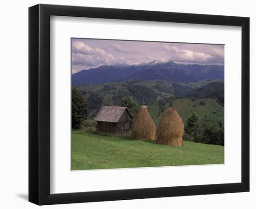
[(130, 132), (132, 116), (127, 107), (101, 106), (94, 118), (97, 131), (103, 134), (122, 135)]

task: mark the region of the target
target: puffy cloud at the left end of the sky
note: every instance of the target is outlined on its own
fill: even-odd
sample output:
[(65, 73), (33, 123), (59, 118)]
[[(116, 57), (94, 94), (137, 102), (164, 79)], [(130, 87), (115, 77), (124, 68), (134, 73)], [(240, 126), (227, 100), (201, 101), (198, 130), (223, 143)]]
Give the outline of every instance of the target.
[(97, 67), (110, 65), (113, 59), (115, 59), (114, 56), (103, 49), (92, 48), (80, 41), (72, 44), (72, 65)]

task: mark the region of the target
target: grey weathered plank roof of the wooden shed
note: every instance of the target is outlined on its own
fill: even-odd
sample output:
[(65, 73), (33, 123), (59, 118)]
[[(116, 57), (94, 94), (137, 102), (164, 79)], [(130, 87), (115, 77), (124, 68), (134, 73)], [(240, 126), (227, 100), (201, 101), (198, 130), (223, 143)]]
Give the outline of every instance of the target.
[(119, 106), (101, 106), (100, 111), (94, 118), (95, 121), (113, 122), (117, 123), (121, 118), (124, 111), (127, 111), (129, 116), (132, 118), (127, 107)]

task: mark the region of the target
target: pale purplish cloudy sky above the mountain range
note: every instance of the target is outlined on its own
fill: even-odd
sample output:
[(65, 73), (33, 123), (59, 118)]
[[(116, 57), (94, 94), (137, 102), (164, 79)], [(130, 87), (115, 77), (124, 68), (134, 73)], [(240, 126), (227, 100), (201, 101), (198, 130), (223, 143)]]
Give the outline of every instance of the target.
[(224, 45), (71, 39), (72, 73), (101, 65), (139, 64), (154, 60), (224, 65)]

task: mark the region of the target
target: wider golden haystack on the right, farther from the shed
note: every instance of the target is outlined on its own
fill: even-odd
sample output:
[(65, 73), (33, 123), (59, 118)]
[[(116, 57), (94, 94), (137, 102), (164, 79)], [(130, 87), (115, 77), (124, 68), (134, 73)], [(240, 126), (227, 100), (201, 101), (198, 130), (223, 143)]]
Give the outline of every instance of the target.
[(182, 146), (182, 135), (184, 124), (177, 111), (169, 108), (164, 112), (163, 117), (157, 126), (156, 144), (169, 146)]

